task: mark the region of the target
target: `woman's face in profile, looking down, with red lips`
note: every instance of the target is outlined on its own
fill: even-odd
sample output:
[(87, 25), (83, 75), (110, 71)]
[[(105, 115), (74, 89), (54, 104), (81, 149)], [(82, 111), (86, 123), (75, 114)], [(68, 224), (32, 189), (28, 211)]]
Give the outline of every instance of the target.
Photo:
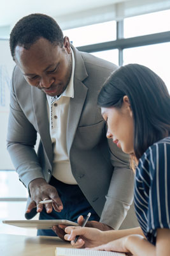
[(101, 114), (108, 125), (107, 138), (112, 138), (127, 154), (134, 154), (134, 124), (129, 99), (124, 96), (121, 108), (101, 108)]

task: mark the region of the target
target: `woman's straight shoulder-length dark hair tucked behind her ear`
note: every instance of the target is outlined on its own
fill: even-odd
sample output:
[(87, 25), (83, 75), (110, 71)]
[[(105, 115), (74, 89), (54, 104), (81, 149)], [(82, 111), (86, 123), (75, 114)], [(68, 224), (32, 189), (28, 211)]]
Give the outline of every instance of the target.
[(127, 95), (134, 118), (134, 154), (139, 159), (148, 147), (170, 134), (170, 97), (166, 85), (150, 68), (129, 64), (118, 68), (98, 96), (100, 107), (121, 108)]

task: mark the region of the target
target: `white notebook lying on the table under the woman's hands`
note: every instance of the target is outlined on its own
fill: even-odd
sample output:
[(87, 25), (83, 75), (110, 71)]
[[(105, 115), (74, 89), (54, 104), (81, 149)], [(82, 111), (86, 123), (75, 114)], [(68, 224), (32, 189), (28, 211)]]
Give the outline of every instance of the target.
[(57, 247), (55, 256), (124, 256), (125, 253)]

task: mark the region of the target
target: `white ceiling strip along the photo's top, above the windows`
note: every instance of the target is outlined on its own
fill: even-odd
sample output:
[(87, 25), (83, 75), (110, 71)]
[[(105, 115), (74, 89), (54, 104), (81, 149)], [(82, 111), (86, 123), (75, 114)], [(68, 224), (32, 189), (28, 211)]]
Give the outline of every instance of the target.
[(25, 15), (52, 16), (62, 30), (170, 8), (170, 0), (0, 0), (0, 37)]

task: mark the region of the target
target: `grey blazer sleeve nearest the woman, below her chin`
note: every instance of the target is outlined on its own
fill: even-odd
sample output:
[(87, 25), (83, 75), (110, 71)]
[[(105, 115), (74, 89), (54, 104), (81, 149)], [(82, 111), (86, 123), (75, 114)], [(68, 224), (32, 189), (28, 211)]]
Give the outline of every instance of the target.
[[(134, 173), (130, 168), (129, 155), (122, 152), (112, 140), (108, 140), (108, 145), (114, 169), (100, 221), (114, 229), (118, 229), (132, 204)], [(129, 226), (136, 227), (138, 226), (138, 221), (134, 210), (131, 212), (132, 217), (129, 216)], [(134, 218), (134, 220), (131, 220), (131, 218)]]

